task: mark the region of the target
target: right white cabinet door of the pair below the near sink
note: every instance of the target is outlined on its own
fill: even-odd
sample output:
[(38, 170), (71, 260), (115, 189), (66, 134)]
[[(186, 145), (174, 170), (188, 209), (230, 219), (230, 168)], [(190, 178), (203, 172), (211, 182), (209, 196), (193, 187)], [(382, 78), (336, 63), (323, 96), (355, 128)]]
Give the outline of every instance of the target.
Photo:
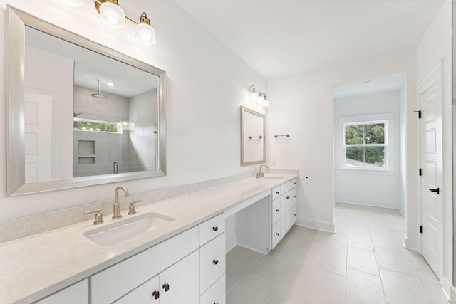
[[(199, 255), (190, 253), (160, 273), (160, 304), (199, 303)], [(159, 302), (153, 302), (159, 303)], [(136, 303), (135, 303), (136, 304)]]

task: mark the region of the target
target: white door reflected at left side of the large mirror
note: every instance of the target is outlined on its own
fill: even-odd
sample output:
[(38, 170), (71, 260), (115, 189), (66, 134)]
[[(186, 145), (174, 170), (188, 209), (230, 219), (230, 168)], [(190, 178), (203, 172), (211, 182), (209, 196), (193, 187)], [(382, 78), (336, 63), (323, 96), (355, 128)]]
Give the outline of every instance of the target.
[(52, 97), (24, 95), (26, 182), (51, 179)]

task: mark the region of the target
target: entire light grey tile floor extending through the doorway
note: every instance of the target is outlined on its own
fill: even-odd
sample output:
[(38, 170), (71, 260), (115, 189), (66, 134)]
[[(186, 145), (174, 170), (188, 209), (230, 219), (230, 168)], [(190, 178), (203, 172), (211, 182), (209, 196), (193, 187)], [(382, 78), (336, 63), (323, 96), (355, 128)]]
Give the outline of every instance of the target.
[(336, 234), (293, 226), (268, 255), (227, 253), (227, 304), (448, 303), (434, 273), (401, 246), (397, 210), (336, 204)]

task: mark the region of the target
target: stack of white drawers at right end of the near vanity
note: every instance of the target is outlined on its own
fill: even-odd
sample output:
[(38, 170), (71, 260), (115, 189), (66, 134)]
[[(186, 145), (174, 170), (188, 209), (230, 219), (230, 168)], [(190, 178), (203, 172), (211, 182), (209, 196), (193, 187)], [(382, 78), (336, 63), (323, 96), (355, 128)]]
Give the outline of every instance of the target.
[(225, 303), (225, 216), (199, 225), (200, 304)]

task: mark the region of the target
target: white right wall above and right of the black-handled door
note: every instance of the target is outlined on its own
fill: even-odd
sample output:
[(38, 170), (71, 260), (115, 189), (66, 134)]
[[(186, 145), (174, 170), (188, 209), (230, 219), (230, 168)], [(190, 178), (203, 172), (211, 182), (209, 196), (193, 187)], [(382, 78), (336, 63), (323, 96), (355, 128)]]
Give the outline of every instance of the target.
[[(418, 80), (443, 60), (443, 278), (445, 291), (452, 285), (452, 33), (451, 2), (445, 1), (417, 47)], [(418, 216), (418, 211), (417, 211)]]

